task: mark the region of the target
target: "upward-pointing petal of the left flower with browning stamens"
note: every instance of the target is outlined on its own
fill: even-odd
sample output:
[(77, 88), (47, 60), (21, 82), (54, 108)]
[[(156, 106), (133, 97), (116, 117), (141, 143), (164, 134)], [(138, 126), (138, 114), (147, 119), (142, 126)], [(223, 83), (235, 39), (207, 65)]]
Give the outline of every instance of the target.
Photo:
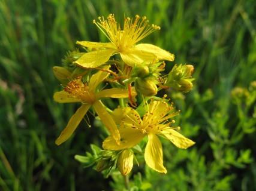
[[(108, 70), (110, 67), (110, 65), (104, 66), (103, 69), (104, 70)], [(104, 79), (107, 78), (107, 76), (109, 76), (109, 72), (106, 71), (98, 71), (97, 73), (95, 73), (94, 75), (92, 75), (90, 82), (89, 82), (89, 91), (95, 91), (95, 89), (97, 88), (97, 86), (104, 81)]]

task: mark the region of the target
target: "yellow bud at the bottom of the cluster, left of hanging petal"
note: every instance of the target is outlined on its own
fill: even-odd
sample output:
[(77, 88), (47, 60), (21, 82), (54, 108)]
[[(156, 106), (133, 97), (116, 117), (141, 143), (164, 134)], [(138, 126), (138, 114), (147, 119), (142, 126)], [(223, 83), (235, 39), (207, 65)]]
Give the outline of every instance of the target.
[(118, 170), (122, 175), (127, 175), (133, 167), (133, 152), (130, 149), (125, 149), (118, 157)]

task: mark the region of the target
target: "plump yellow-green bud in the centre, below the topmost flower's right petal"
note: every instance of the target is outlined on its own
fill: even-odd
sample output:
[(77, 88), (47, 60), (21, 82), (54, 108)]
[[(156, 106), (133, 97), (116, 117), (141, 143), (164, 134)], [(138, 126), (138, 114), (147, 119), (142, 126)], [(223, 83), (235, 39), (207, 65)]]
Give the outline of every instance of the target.
[(154, 96), (157, 94), (156, 81), (153, 79), (141, 79), (138, 78), (135, 81), (135, 90), (144, 96)]

